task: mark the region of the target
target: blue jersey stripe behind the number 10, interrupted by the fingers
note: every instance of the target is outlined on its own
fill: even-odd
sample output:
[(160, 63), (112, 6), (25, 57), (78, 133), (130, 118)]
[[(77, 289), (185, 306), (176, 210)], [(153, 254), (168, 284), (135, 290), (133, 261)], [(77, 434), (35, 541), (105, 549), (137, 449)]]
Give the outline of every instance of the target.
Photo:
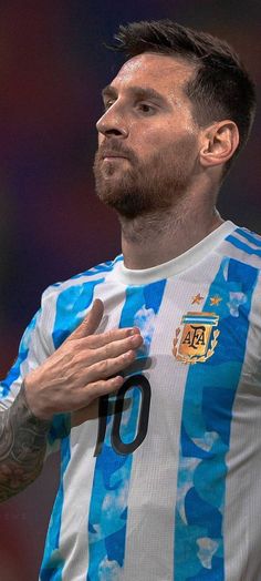
[[(121, 327), (138, 325), (144, 333), (144, 349), (139, 356), (149, 353), (154, 333), (154, 318), (158, 313), (165, 281), (147, 286), (127, 288), (126, 302), (121, 317)], [(149, 325), (147, 323), (149, 322)], [(130, 410), (123, 412), (121, 437), (125, 444), (133, 441), (138, 419), (139, 390), (128, 393), (133, 400)], [(132, 473), (133, 453), (119, 455), (111, 444), (114, 417), (107, 418), (106, 436), (102, 452), (97, 457), (92, 500), (90, 507), (90, 567), (87, 581), (117, 579), (124, 565), (127, 527), (127, 499)], [(135, 452), (134, 452), (135, 453)], [(107, 577), (106, 577), (107, 575)]]

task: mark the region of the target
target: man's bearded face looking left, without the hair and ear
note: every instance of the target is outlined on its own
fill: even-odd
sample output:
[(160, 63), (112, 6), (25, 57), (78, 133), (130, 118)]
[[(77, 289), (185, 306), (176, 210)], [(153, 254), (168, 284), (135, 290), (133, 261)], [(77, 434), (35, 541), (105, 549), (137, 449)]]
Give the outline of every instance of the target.
[(134, 218), (165, 211), (186, 195), (198, 172), (199, 128), (185, 85), (185, 60), (143, 53), (103, 91), (94, 174), (100, 198)]

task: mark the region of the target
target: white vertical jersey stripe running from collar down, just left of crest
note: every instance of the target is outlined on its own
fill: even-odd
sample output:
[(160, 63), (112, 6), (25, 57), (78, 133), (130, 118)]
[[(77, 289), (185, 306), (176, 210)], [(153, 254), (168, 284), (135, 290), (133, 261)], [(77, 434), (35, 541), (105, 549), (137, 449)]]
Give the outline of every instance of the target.
[[(144, 374), (152, 385), (149, 428), (133, 457), (124, 581), (173, 581), (180, 419), (189, 370), (175, 359), (173, 342), (192, 298), (198, 293), (207, 297), (219, 266), (219, 256), (211, 265), (208, 261), (208, 285), (197, 282), (203, 279), (202, 263), (186, 273), (190, 284), (174, 277), (166, 285), (150, 347), (152, 368)], [(194, 307), (202, 309), (202, 305)]]

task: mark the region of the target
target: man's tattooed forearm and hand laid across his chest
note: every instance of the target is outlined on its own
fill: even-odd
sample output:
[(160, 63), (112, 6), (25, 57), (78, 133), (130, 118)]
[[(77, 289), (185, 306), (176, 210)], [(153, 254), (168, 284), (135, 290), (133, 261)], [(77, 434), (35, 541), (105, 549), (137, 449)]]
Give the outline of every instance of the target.
[(95, 335), (103, 304), (95, 300), (70, 337), (23, 380), (12, 406), (0, 412), (0, 501), (23, 490), (41, 472), (55, 414), (76, 411), (123, 385), (121, 371), (135, 359), (137, 328)]

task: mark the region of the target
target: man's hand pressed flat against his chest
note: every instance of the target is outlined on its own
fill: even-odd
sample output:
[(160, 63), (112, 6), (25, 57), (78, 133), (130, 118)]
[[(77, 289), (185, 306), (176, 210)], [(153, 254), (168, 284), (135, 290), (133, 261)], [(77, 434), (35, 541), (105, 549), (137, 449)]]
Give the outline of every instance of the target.
[(143, 338), (137, 327), (94, 335), (103, 310), (102, 300), (96, 299), (77, 329), (27, 376), (25, 397), (36, 418), (75, 411), (123, 385), (117, 374), (134, 361)]

